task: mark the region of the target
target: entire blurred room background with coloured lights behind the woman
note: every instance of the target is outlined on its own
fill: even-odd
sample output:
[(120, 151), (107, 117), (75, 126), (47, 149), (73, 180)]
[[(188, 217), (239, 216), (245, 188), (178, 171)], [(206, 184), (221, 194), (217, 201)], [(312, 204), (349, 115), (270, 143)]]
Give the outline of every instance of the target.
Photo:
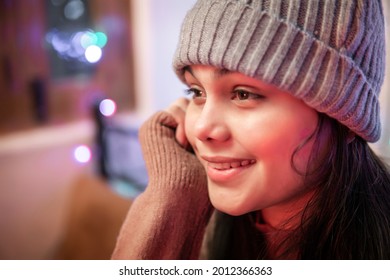
[(147, 183), (139, 125), (183, 96), (171, 61), (194, 2), (0, 0), (0, 259), (110, 257)]

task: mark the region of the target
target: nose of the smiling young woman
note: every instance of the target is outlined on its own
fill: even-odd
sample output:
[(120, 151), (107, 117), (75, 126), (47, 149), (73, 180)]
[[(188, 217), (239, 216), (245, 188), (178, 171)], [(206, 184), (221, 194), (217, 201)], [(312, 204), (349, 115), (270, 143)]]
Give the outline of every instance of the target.
[(225, 110), (214, 101), (207, 100), (196, 120), (195, 136), (201, 141), (224, 142), (230, 138)]

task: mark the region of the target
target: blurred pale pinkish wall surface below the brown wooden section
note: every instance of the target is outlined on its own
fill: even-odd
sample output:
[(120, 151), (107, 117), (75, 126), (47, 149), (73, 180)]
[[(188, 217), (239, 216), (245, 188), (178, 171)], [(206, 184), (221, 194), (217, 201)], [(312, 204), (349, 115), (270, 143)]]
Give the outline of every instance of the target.
[(46, 259), (56, 250), (76, 178), (91, 163), (73, 157), (91, 145), (89, 122), (39, 128), (0, 137), (0, 259)]

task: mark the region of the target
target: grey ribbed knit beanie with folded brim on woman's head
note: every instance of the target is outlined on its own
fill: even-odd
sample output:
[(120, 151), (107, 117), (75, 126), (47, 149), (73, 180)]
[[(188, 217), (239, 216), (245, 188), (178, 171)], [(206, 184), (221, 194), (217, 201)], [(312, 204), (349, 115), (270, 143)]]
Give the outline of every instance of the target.
[(206, 64), (273, 84), (369, 142), (380, 137), (380, 0), (199, 0), (173, 66)]

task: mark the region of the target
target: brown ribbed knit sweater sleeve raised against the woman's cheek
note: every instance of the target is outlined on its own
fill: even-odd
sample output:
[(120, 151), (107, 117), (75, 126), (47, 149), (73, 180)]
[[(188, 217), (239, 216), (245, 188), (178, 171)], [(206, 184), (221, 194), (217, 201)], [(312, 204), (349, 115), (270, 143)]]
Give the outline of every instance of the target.
[(212, 207), (204, 168), (175, 140), (177, 123), (158, 112), (140, 129), (146, 190), (132, 204), (113, 259), (197, 259)]

